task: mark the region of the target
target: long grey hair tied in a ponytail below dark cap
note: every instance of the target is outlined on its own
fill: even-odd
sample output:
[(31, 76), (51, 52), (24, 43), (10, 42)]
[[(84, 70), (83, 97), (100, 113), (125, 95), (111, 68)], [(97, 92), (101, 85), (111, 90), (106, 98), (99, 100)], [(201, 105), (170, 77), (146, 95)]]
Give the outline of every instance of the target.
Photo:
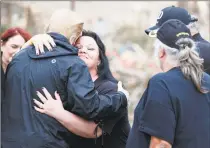
[(168, 47), (157, 40), (155, 47), (156, 50), (164, 49), (170, 58), (169, 61), (178, 63), (184, 76), (192, 80), (199, 92), (207, 93), (208, 91), (201, 87), (204, 74), (203, 59), (199, 57), (194, 41), (189, 38), (181, 38), (176, 44), (179, 46), (179, 49)]

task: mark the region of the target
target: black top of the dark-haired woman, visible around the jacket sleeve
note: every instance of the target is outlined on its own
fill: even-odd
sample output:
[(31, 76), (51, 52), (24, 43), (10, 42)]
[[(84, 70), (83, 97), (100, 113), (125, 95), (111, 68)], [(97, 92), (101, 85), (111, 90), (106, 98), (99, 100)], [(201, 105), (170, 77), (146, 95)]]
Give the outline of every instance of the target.
[[(117, 83), (113, 83), (108, 79), (98, 78), (94, 81), (95, 88), (99, 94), (112, 94), (117, 92)], [(74, 135), (73, 142), (70, 143), (72, 148), (125, 148), (130, 124), (128, 121), (128, 112), (123, 112), (114, 118), (101, 121), (99, 127), (103, 130), (103, 135), (96, 139), (83, 138)], [(70, 138), (70, 139), (71, 139)]]

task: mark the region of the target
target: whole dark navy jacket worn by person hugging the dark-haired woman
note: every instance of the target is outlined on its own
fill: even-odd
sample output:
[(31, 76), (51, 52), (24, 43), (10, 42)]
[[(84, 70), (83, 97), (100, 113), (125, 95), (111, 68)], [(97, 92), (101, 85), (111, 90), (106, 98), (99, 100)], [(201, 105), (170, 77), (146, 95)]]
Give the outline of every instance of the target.
[[(42, 87), (57, 90), (64, 108), (87, 119), (117, 116), (126, 109), (122, 93), (99, 96), (85, 63), (67, 38), (50, 33), (56, 47), (37, 56), (33, 46), (17, 53), (9, 64), (2, 105), (3, 148), (68, 148), (68, 133), (58, 121), (34, 110)], [(42, 91), (41, 91), (42, 92)], [(68, 139), (69, 140), (69, 139)]]

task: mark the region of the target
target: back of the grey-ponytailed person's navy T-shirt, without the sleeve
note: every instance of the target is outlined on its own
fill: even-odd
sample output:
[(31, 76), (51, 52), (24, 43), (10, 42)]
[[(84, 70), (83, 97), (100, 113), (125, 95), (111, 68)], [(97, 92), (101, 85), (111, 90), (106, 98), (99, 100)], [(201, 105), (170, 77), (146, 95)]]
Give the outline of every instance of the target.
[(197, 91), (179, 68), (156, 77), (171, 96), (169, 103), (177, 121), (173, 148), (210, 147), (210, 93)]

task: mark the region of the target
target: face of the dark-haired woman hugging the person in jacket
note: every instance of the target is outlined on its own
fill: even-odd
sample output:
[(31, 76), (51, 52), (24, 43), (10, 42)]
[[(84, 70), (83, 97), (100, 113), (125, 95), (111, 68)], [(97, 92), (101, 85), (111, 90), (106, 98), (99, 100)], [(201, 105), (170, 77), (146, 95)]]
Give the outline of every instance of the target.
[(89, 36), (82, 36), (76, 42), (78, 56), (87, 64), (89, 70), (95, 69), (100, 64), (99, 47), (96, 41)]

